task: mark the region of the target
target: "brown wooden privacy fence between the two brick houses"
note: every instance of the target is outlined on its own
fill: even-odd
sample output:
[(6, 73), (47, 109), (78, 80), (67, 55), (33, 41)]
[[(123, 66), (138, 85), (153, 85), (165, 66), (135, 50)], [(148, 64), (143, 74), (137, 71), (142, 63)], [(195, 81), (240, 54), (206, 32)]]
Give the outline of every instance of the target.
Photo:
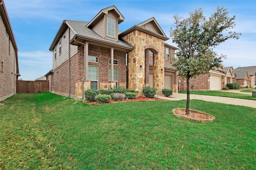
[(24, 81), (16, 80), (16, 93), (49, 92), (49, 81)]

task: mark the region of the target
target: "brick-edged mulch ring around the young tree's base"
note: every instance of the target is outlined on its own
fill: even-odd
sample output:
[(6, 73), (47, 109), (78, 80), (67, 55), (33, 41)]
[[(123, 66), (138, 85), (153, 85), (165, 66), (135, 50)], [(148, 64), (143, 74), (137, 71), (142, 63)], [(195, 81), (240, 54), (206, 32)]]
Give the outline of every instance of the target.
[(190, 114), (186, 115), (186, 109), (176, 108), (172, 110), (174, 116), (185, 120), (192, 120), (198, 123), (215, 121), (215, 117), (198, 110), (190, 109)]

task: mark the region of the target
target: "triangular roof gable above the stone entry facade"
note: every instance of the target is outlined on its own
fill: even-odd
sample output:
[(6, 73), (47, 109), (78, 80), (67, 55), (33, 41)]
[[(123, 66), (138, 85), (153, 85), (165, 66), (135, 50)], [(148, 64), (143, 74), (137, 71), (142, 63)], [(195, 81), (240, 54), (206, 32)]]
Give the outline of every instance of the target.
[(161, 35), (165, 35), (164, 31), (162, 30), (162, 28), (160, 27), (160, 25), (157, 23), (156, 19), (154, 17), (138, 24), (139, 27), (148, 29), (149, 31), (152, 31), (154, 33), (158, 33)]

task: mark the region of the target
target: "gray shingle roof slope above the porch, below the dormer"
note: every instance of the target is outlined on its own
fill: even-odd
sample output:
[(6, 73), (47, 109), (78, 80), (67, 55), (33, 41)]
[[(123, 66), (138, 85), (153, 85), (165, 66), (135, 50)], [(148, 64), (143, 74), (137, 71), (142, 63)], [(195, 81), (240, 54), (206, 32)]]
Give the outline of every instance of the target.
[(66, 23), (71, 27), (71, 29), (73, 31), (75, 31), (75, 34), (77, 34), (81, 37), (85, 37), (88, 39), (94, 39), (94, 40), (98, 40), (98, 41), (104, 41), (106, 43), (112, 43), (115, 45), (121, 45), (121, 46), (128, 47), (131, 49), (134, 48), (132, 45), (123, 41), (122, 39), (119, 39), (118, 41), (112, 41), (112, 40), (105, 39), (105, 38), (101, 37), (96, 32), (94, 32), (92, 29), (86, 27), (88, 22), (66, 20)]

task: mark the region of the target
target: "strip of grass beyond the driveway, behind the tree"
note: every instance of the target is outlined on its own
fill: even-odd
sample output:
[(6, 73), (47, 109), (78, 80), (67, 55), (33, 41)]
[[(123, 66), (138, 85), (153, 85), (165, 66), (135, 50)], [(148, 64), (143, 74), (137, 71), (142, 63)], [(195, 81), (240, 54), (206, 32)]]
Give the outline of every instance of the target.
[[(180, 91), (179, 93), (187, 94), (187, 91)], [(248, 94), (240, 94), (240, 93), (221, 92), (221, 91), (195, 91), (195, 90), (190, 90), (190, 94), (199, 94), (199, 95), (207, 95), (207, 96), (220, 96), (220, 97), (228, 97), (228, 98), (256, 100), (256, 98), (253, 98), (252, 94), (249, 94), (249, 93)]]

